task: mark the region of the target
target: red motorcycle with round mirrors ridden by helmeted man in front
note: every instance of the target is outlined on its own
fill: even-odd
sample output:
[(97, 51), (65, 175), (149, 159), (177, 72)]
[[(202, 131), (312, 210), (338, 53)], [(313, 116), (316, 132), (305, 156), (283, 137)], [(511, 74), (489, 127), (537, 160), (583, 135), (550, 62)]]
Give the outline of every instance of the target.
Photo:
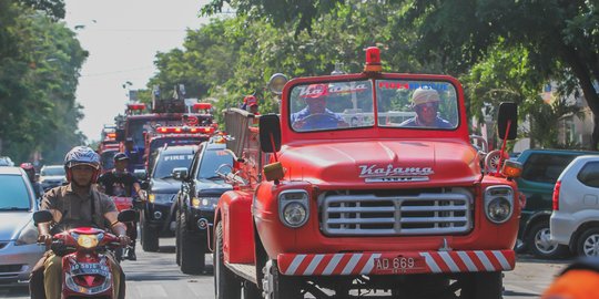
[[(131, 221), (134, 210), (123, 210), (119, 221)], [(39, 210), (35, 223), (49, 223), (52, 214)], [(113, 298), (113, 279), (106, 250), (120, 247), (119, 237), (93, 227), (68, 229), (52, 236), (51, 248), (62, 257), (62, 298)], [(124, 283), (124, 281), (122, 281)]]

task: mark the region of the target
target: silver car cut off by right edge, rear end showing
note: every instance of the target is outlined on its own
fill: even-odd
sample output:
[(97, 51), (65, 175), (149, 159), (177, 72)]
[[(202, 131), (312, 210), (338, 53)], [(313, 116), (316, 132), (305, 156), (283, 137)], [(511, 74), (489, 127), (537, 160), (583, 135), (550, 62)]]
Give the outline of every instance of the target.
[(599, 256), (599, 156), (579, 156), (554, 189), (551, 240), (579, 256)]

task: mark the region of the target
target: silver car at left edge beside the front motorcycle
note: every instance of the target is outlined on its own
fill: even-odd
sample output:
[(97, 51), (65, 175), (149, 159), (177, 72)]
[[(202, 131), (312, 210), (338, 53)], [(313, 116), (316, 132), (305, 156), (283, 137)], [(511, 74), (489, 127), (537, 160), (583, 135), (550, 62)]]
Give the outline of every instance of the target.
[(37, 244), (38, 210), (27, 174), (19, 167), (0, 167), (0, 285), (28, 282), (31, 268), (45, 248)]

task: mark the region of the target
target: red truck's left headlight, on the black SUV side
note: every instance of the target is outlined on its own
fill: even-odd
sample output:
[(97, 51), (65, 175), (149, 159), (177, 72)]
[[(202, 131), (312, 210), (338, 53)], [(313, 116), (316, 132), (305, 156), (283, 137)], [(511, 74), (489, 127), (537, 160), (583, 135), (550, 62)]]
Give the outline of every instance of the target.
[(278, 195), (278, 217), (292, 228), (303, 226), (309, 218), (309, 197), (306, 190), (291, 189)]

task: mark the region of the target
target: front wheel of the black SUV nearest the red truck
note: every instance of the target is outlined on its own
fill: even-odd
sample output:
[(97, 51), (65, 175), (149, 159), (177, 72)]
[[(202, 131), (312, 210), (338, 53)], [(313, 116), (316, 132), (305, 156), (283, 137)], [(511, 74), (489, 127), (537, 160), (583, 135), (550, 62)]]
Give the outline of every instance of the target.
[(185, 213), (181, 213), (179, 223), (179, 243), (181, 245), (181, 271), (190, 275), (199, 275), (204, 271), (206, 240), (199, 238), (196, 234), (187, 230)]

